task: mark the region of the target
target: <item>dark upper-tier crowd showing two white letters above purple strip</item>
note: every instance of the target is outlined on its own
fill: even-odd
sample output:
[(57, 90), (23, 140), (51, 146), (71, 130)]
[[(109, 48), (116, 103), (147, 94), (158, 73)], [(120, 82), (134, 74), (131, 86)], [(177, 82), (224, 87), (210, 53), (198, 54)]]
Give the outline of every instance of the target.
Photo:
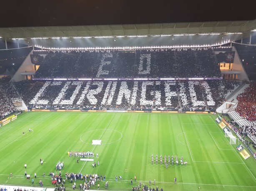
[(221, 77), (212, 49), (34, 51), (33, 54), (47, 54), (35, 78)]

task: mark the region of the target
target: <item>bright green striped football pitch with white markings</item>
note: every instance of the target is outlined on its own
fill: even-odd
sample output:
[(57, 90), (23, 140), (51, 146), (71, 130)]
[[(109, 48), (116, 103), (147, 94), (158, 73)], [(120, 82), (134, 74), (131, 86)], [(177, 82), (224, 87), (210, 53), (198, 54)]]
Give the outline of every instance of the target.
[[(60, 161), (64, 162), (64, 178), (65, 172), (102, 174), (109, 190), (132, 190), (140, 181), (149, 186), (150, 179), (149, 188), (158, 186), (164, 191), (256, 190), (255, 160), (241, 157), (236, 150), (238, 142), (229, 144), (215, 118), (216, 115), (186, 113), (23, 113), (0, 127), (0, 184), (31, 186), (37, 173), (35, 186), (42, 180), (44, 187), (53, 188), (49, 173), (59, 172), (55, 167)], [(101, 140), (102, 144), (92, 145), (92, 140)], [(80, 157), (69, 157), (68, 151), (93, 152), (96, 167), (92, 167), (93, 161), (77, 163)], [(168, 155), (177, 155), (178, 166), (174, 158), (174, 165), (166, 169), (164, 162), (160, 164), (161, 155), (166, 155), (167, 161)], [(181, 166), (181, 156), (187, 166)], [(24, 177), (25, 170), (31, 175), (30, 180)], [(122, 176), (122, 180), (116, 182), (115, 176)], [(80, 183), (77, 180), (77, 189)], [(97, 190), (97, 184), (91, 189)], [(105, 190), (104, 185), (100, 181), (101, 190)], [(65, 186), (72, 189), (70, 181)]]

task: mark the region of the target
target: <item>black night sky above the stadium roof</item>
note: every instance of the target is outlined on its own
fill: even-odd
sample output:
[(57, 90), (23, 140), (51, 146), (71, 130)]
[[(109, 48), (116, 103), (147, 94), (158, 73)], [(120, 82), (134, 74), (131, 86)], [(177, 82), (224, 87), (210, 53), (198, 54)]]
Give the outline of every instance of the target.
[(0, 27), (256, 19), (256, 0), (1, 0), (0, 2)]

